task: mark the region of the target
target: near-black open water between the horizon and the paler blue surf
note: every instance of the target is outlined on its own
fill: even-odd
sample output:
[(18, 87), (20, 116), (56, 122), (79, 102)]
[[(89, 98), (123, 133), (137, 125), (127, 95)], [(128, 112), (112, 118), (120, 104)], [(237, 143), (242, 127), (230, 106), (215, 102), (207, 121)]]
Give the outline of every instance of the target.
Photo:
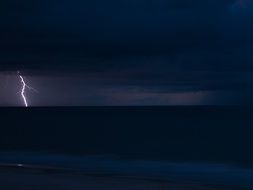
[(253, 108), (1, 108), (0, 150), (253, 166)]

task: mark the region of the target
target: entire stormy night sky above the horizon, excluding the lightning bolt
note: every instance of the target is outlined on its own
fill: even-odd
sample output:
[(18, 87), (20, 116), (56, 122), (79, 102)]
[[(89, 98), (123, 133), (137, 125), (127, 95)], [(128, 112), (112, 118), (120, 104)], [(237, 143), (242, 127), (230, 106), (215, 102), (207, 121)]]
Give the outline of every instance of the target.
[(0, 2), (0, 106), (253, 104), (252, 0)]

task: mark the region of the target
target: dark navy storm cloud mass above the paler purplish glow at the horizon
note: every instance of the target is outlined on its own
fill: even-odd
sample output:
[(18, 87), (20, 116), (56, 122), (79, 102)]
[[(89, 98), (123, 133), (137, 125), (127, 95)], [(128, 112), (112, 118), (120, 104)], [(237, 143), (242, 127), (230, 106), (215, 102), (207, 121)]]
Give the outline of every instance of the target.
[(253, 84), (252, 1), (1, 4), (1, 70), (78, 72), (104, 83), (160, 91)]

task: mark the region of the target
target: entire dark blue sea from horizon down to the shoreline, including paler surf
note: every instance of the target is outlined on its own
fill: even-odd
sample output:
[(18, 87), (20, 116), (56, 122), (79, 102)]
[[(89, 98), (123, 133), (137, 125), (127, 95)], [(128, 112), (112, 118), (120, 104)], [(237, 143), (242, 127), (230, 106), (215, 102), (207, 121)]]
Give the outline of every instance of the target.
[(1, 108), (0, 112), (0, 174), (3, 168), (24, 164), (253, 188), (250, 107)]

